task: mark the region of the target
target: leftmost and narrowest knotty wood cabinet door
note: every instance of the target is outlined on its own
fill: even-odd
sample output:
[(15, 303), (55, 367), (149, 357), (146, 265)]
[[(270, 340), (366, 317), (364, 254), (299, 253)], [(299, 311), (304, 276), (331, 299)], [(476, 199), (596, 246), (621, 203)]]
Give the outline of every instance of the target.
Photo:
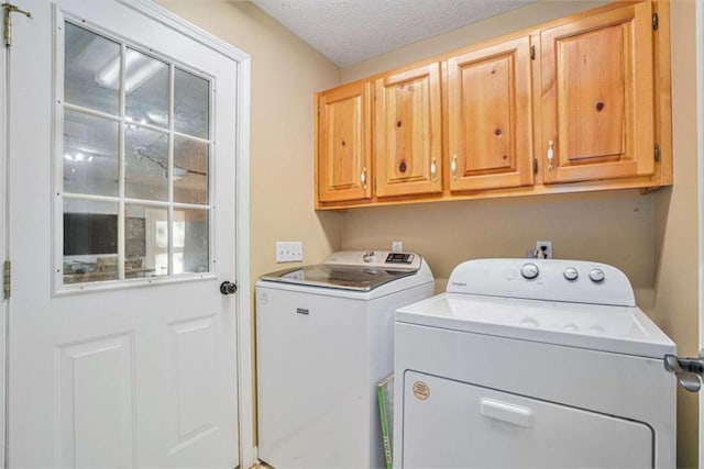
[(372, 197), (371, 83), (318, 96), (318, 201)]

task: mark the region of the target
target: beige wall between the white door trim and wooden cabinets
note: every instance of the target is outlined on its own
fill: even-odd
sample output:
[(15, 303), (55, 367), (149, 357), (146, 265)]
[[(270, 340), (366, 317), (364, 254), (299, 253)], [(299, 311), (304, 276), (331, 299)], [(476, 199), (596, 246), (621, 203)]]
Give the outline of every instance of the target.
[(252, 57), (252, 284), (285, 267), (276, 241), (302, 241), (306, 261), (324, 258), (340, 246), (341, 215), (312, 208), (312, 97), (338, 85), (340, 69), (249, 1), (158, 3)]

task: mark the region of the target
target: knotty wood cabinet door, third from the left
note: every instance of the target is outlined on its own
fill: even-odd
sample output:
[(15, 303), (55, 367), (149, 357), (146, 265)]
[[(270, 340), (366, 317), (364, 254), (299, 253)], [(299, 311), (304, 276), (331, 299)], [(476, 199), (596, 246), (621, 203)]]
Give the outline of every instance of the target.
[(530, 38), (448, 59), (450, 190), (529, 186)]

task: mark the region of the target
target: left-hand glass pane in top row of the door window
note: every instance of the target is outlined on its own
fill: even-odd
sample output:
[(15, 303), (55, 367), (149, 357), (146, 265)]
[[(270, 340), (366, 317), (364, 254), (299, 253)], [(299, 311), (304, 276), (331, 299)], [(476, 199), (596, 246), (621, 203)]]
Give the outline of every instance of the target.
[(64, 99), (118, 115), (120, 44), (72, 23), (64, 26)]

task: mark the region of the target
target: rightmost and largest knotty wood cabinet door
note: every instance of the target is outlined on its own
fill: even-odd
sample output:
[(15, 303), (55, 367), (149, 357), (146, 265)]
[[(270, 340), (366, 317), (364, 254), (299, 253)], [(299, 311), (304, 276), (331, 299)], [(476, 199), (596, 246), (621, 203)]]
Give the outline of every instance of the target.
[(652, 5), (541, 32), (546, 183), (652, 175)]

